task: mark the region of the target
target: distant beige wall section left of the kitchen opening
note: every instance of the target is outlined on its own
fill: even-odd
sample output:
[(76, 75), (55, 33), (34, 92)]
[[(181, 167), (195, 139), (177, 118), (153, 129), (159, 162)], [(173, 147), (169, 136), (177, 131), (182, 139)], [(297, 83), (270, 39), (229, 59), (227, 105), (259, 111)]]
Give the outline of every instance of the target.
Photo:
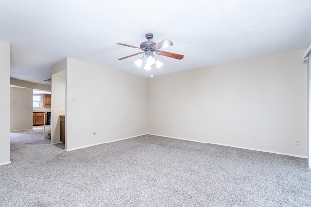
[(33, 90), (10, 87), (10, 130), (33, 128)]

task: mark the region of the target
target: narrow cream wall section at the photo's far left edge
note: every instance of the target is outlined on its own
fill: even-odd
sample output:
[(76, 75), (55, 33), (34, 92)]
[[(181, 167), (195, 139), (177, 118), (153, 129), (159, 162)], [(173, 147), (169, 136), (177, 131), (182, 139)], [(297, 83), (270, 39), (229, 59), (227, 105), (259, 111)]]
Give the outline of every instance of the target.
[(10, 43), (0, 41), (0, 165), (10, 161)]

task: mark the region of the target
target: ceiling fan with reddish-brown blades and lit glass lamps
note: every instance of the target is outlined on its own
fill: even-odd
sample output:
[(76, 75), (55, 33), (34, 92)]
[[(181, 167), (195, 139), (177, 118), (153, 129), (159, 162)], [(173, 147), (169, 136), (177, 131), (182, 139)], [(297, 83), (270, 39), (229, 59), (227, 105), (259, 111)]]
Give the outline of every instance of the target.
[[(173, 45), (173, 42), (171, 42), (170, 40), (162, 40), (161, 42), (155, 43), (153, 41), (151, 41), (151, 39), (153, 38), (153, 34), (146, 34), (146, 38), (148, 39), (148, 41), (144, 41), (140, 44), (140, 47), (136, 47), (136, 46), (132, 46), (132, 45), (127, 45), (124, 43), (117, 43), (118, 45), (123, 45), (123, 46), (127, 46), (127, 47), (132, 47), (132, 48), (138, 48), (143, 50), (143, 52), (138, 52), (123, 58), (119, 58), (118, 60), (123, 60), (125, 58), (129, 58), (135, 55), (139, 55), (139, 54), (143, 54), (142, 58), (139, 58), (137, 61), (135, 61), (134, 63), (138, 66), (141, 67), (142, 63), (144, 62), (144, 58), (145, 60), (145, 66), (144, 69), (145, 70), (149, 70), (149, 77), (153, 77), (152, 75), (152, 67), (156, 65), (157, 68), (161, 67), (163, 65), (162, 62), (160, 62), (159, 60), (155, 59), (155, 55), (153, 54), (155, 52), (155, 54), (157, 55), (162, 55), (162, 56), (166, 56), (166, 57), (170, 57), (170, 58), (175, 58), (178, 60), (181, 60), (184, 58), (183, 55), (179, 55), (179, 54), (175, 54), (175, 53), (171, 53), (171, 52), (164, 52), (164, 51), (160, 51), (158, 49), (161, 48), (166, 48), (169, 47), (171, 45)], [(151, 71), (151, 72), (150, 72)]]

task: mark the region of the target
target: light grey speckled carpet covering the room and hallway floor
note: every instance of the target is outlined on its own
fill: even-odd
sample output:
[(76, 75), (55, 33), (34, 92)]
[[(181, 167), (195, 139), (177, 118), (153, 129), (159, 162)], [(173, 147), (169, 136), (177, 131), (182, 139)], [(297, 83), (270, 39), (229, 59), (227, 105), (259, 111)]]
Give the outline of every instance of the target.
[(307, 159), (151, 135), (64, 151), (11, 133), (1, 207), (310, 207)]

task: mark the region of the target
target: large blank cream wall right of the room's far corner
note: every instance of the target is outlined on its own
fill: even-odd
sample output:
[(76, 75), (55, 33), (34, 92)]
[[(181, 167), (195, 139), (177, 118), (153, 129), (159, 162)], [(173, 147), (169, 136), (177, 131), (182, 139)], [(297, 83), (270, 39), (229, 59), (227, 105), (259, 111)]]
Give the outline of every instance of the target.
[(307, 156), (303, 52), (148, 79), (148, 133)]

